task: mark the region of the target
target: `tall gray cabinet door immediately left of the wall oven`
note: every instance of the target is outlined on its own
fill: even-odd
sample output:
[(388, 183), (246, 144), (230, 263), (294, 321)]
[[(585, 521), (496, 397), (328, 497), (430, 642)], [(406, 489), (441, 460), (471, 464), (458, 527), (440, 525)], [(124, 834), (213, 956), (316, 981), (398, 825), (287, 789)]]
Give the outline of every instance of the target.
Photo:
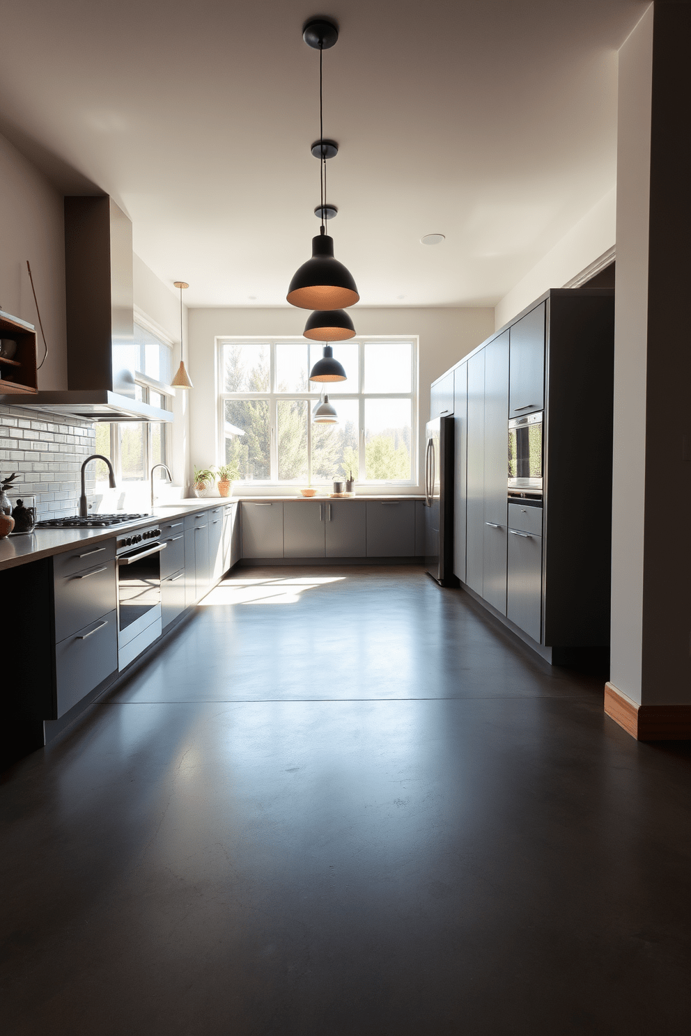
[(507, 613), (509, 332), (485, 347), (483, 598)]

